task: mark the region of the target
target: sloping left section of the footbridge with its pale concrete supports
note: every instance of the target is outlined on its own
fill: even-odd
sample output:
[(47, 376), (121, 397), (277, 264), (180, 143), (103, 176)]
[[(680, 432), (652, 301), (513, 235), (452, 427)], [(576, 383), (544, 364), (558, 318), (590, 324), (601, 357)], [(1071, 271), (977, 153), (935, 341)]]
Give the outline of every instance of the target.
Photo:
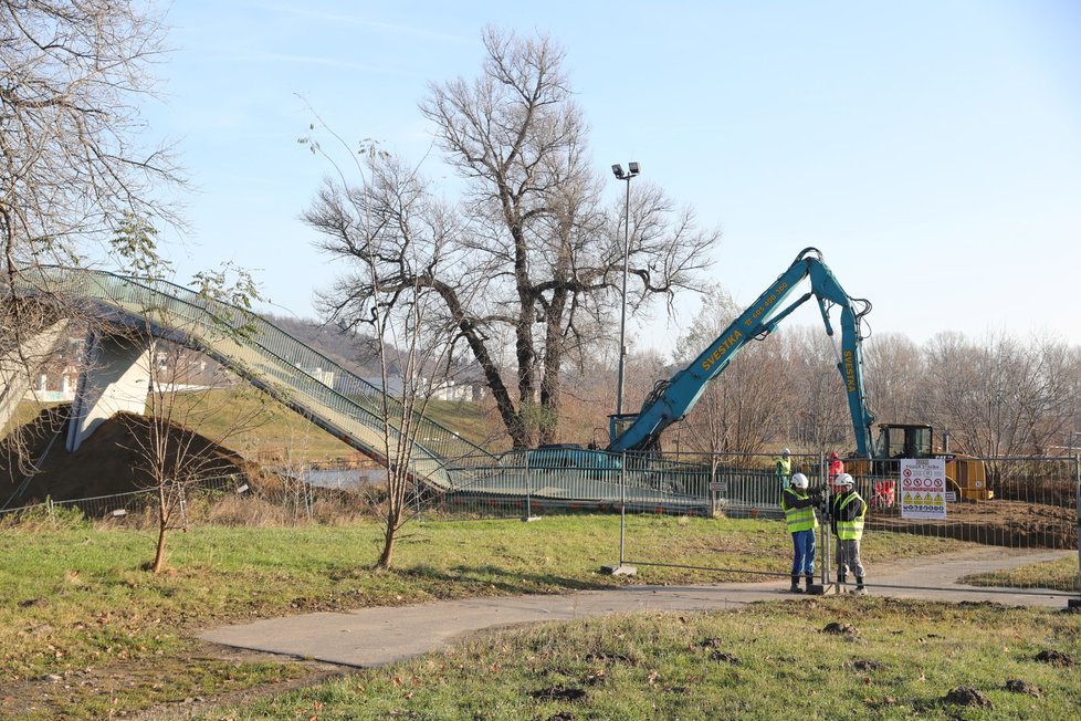
[[(66, 440), (71, 452), (116, 411), (144, 412), (151, 358), (149, 344), (133, 343), (133, 334), (206, 354), (379, 462), (395, 458), (398, 443), (408, 440), (395, 422), (402, 418), (400, 400), (250, 311), (166, 281), (87, 269), (25, 273), (18, 292), (52, 305), (59, 314), (51, 328), (23, 341), (38, 354), (60, 342), (67, 323), (64, 315), (96, 321), (72, 407)], [(0, 426), (31, 385), (32, 373), (18, 366), (18, 354), (0, 358)], [(334, 387), (321, 380), (332, 376)], [(389, 404), (390, 412), (384, 404)], [(468, 479), (458, 477), (466, 467), (495, 462), (485, 449), (419, 412), (408, 422), (414, 437), (409, 447), (410, 472), (427, 484), (441, 490), (461, 487)]]

